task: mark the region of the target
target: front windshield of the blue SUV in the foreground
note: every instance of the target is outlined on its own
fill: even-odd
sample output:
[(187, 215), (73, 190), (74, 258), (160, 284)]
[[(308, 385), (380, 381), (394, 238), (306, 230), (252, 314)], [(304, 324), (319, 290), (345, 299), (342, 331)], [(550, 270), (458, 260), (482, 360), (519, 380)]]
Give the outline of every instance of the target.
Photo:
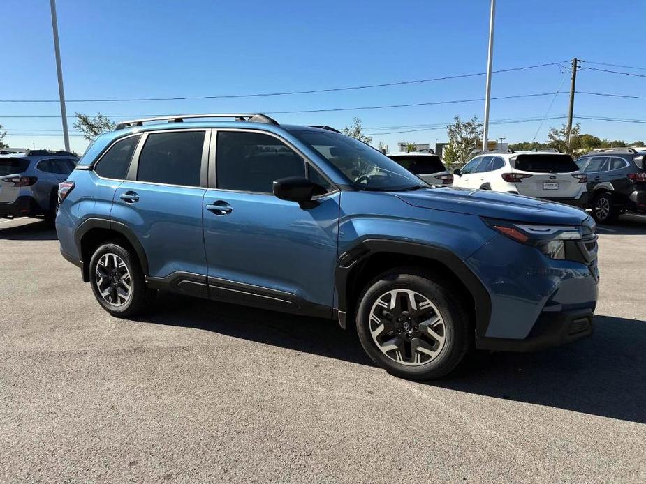
[(291, 133), (321, 153), (360, 190), (427, 188), (417, 176), (357, 139), (314, 130), (293, 130)]

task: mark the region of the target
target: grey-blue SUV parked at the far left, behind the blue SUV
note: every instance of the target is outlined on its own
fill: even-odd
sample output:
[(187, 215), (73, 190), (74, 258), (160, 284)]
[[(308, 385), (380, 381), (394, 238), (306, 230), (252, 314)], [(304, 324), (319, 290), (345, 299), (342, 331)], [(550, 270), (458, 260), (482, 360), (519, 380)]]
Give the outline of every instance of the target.
[(59, 183), (78, 163), (67, 151), (31, 150), (0, 155), (0, 217), (54, 219)]

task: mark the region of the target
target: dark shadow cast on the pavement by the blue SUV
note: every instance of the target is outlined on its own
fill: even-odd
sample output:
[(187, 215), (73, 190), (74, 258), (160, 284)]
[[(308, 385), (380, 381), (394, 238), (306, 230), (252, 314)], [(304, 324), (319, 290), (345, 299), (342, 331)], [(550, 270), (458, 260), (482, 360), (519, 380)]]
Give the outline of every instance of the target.
[[(325, 319), (163, 294), (140, 321), (214, 331), (373, 365), (355, 332)], [(476, 353), (430, 386), (646, 423), (646, 321), (596, 316), (592, 338), (533, 354)], [(424, 384), (424, 383), (420, 383)]]

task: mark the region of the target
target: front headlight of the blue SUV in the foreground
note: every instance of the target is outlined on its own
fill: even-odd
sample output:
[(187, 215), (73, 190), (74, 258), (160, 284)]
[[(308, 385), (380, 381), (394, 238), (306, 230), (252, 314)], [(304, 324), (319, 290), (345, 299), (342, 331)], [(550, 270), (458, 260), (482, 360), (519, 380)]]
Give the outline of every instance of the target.
[(524, 245), (531, 245), (550, 259), (565, 259), (565, 241), (580, 240), (582, 228), (572, 225), (528, 225), (483, 218), (492, 229)]

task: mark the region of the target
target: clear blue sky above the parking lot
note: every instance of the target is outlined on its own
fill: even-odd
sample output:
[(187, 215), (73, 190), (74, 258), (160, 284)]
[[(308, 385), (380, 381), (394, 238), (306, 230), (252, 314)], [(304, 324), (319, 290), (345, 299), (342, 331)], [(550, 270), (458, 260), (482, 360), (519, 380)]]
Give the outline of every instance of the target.
[[(49, 2), (3, 0), (0, 99), (57, 99)], [(132, 98), (263, 93), (419, 80), (486, 70), (489, 1), (72, 1), (58, 0), (66, 98)], [(562, 62), (646, 68), (646, 2), (498, 0), (494, 70)], [(584, 63), (585, 67), (646, 75), (646, 70)], [(558, 66), (494, 74), (492, 96), (569, 89)], [(562, 84), (561, 84), (562, 82)], [(646, 77), (580, 70), (577, 89), (646, 96)], [(68, 103), (68, 114), (277, 112), (483, 98), (485, 77), (294, 96), (146, 103)], [(493, 100), (491, 119), (542, 118), (554, 96)], [(556, 96), (549, 116), (567, 112)], [(446, 138), (455, 114), (483, 116), (483, 102), (392, 109), (273, 114), (281, 123), (363, 126), (395, 149), (399, 141)], [(646, 119), (646, 99), (578, 95), (575, 114)], [(63, 146), (57, 103), (0, 103), (10, 146)], [(548, 120), (538, 133), (543, 141)], [(72, 128), (73, 119), (70, 119)], [(646, 138), (646, 124), (580, 120), (601, 137)], [(490, 138), (534, 137), (540, 121), (495, 124)], [(376, 129), (384, 126), (397, 128)], [(406, 126), (401, 128), (401, 126)], [(410, 127), (409, 127), (410, 126)], [(72, 133), (78, 134), (78, 133)], [(47, 135), (47, 136), (44, 136)], [(82, 151), (82, 137), (72, 137)]]

